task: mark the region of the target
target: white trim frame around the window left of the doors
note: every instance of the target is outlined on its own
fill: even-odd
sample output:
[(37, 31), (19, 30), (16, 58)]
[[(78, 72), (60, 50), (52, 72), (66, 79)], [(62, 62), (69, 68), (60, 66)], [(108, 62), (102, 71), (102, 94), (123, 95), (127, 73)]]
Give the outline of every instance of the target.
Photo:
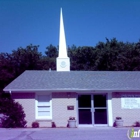
[[(50, 95), (50, 116), (38, 116), (38, 99), (37, 95)], [(52, 93), (50, 92), (36, 92), (35, 94), (35, 119), (36, 120), (52, 120)]]

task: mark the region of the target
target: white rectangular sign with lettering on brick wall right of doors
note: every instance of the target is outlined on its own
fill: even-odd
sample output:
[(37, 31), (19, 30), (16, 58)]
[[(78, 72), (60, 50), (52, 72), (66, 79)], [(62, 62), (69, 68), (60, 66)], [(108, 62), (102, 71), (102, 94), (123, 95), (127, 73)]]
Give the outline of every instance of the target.
[(140, 109), (140, 95), (123, 94), (121, 96), (122, 109)]

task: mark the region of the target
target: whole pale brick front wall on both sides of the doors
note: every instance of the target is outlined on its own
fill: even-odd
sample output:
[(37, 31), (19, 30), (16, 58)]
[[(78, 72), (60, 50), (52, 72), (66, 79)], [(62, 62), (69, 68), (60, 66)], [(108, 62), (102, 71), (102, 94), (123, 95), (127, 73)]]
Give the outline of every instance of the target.
[[(70, 97), (68, 97), (68, 94), (66, 92), (52, 93), (52, 120), (35, 119), (35, 93), (12, 93), (12, 97), (23, 106), (27, 127), (31, 127), (33, 121), (38, 121), (40, 127), (51, 127), (52, 122), (55, 122), (57, 127), (67, 127), (70, 116), (76, 119), (78, 117), (77, 93), (70, 93)], [(132, 126), (136, 121), (140, 122), (140, 109), (122, 109), (122, 94), (140, 95), (140, 93), (112, 93), (113, 121), (116, 117), (122, 117), (124, 126)], [(67, 110), (67, 106), (74, 106), (74, 110)]]

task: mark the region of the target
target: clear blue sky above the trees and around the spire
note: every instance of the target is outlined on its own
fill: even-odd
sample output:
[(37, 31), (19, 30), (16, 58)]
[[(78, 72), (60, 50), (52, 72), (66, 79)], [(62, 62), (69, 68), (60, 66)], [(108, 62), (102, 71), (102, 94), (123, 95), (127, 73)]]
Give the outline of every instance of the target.
[(0, 52), (57, 46), (61, 7), (67, 46), (140, 39), (140, 0), (0, 0)]

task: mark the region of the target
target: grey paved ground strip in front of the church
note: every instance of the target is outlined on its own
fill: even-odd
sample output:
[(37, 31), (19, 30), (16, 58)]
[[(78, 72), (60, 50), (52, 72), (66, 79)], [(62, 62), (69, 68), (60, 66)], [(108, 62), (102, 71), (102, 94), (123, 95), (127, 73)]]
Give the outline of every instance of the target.
[[(129, 140), (132, 128), (0, 128), (0, 140)], [(140, 128), (134, 128), (139, 130)], [(140, 139), (140, 138), (132, 138)]]

